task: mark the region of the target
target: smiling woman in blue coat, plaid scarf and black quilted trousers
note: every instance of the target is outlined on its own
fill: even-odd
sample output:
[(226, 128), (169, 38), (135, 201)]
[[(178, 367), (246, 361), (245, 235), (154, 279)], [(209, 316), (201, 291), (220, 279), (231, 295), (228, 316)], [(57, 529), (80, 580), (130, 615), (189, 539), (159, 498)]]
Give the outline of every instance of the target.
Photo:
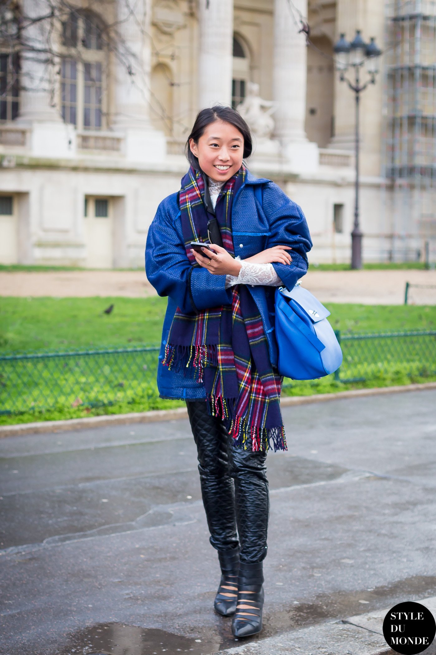
[(262, 629), (265, 460), (271, 445), (286, 450), (274, 292), (305, 274), (312, 246), (299, 206), (244, 166), (251, 151), (237, 111), (200, 111), (186, 143), (190, 169), (159, 204), (146, 244), (148, 280), (168, 296), (159, 394), (186, 400), (222, 571), (214, 607), (233, 615), (235, 637)]

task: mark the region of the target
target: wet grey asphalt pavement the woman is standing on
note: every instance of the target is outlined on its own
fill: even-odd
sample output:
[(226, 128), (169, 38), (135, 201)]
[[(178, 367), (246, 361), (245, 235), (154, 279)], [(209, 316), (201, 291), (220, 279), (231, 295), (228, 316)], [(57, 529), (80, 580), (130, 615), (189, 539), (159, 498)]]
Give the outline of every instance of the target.
[[(283, 411), (264, 629), (436, 594), (436, 392)], [(188, 421), (0, 441), (2, 655), (209, 655), (218, 557)], [(244, 642), (246, 643), (246, 642)]]

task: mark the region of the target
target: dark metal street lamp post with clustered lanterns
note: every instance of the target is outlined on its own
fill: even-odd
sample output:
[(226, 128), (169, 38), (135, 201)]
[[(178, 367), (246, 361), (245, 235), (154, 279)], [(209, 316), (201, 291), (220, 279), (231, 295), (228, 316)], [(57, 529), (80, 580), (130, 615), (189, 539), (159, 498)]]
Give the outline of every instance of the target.
[[(360, 29), (356, 30), (356, 36), (351, 43), (346, 40), (344, 34), (341, 34), (341, 37), (335, 44), (333, 50), (335, 52), (335, 67), (339, 72), (339, 79), (341, 82), (345, 81), (348, 84), (348, 87), (354, 91), (354, 97), (356, 98), (356, 195), (354, 202), (354, 225), (351, 233), (351, 268), (361, 269), (363, 235), (360, 231), (359, 223), (360, 94), (369, 84), (375, 84), (375, 77), (379, 70), (380, 54), (382, 54), (382, 52), (375, 43), (374, 37), (371, 37), (369, 43), (363, 41)], [(360, 84), (360, 69), (365, 62), (367, 73), (369, 73), (370, 77), (364, 84)], [(354, 68), (354, 84), (345, 77), (345, 73), (350, 66)]]

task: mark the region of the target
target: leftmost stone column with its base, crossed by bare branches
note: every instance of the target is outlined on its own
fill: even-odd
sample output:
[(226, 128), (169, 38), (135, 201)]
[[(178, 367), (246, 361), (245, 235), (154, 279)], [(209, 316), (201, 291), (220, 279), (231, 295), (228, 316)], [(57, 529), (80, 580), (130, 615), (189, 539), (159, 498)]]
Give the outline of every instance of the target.
[[(50, 10), (47, 0), (22, 0), (24, 25), (27, 19), (50, 15)], [(23, 30), (26, 47), (21, 54), (20, 113), (15, 122), (31, 128), (33, 155), (71, 157), (73, 128), (65, 125), (55, 105), (58, 79), (54, 57), (47, 52), (56, 51), (56, 32), (50, 18), (28, 25)]]

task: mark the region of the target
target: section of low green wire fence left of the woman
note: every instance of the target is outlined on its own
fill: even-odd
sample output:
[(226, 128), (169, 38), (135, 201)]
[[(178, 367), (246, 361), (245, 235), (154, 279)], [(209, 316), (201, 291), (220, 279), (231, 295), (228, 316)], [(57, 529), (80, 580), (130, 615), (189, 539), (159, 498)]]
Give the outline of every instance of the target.
[(158, 397), (159, 346), (0, 357), (0, 414)]

